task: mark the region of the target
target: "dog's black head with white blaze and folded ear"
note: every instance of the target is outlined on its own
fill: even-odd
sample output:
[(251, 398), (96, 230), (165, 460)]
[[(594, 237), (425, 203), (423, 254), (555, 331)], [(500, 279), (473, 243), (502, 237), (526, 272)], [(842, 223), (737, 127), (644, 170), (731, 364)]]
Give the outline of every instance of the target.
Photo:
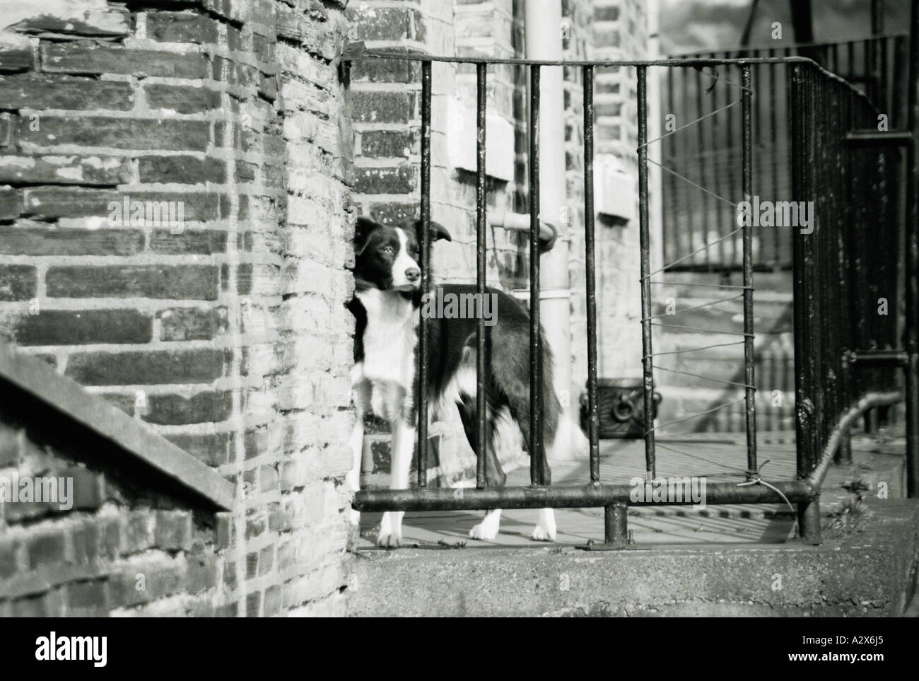
[[(450, 234), (437, 222), (428, 222), (432, 241)], [(411, 292), (421, 287), (422, 223), (390, 227), (370, 218), (357, 218), (354, 235), (354, 278), (358, 286)]]

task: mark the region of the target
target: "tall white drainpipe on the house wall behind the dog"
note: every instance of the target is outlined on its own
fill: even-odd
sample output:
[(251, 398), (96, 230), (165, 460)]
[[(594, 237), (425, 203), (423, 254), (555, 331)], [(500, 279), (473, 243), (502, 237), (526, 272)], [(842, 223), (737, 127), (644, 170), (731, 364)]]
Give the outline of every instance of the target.
[[(526, 0), (524, 28), (527, 59), (562, 59), (561, 0)], [(562, 222), (562, 211), (567, 211), (563, 107), (562, 67), (543, 66), (539, 98), (539, 209), (541, 219), (548, 222)], [(550, 252), (542, 255), (539, 281), (539, 314), (555, 358), (555, 392), (566, 412), (574, 405), (568, 229), (562, 223), (560, 238)]]

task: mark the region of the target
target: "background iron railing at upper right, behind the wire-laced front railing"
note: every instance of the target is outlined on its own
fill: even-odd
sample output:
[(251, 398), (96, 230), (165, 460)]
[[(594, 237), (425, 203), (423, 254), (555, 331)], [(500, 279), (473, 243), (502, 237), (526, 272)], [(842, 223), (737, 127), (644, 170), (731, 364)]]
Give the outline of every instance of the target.
[[(902, 86), (907, 71), (908, 36), (875, 36), (865, 40), (739, 48), (693, 52), (684, 59), (758, 59), (803, 56), (856, 85), (889, 118), (891, 129), (906, 124)], [(735, 196), (741, 177), (742, 112), (731, 106), (737, 69), (725, 67), (719, 77), (700, 69), (668, 69), (664, 77), (664, 113), (678, 125), (697, 121), (694, 135), (675, 135), (664, 144), (664, 165), (718, 196)], [(791, 178), (789, 62), (761, 62), (752, 67), (754, 89), (754, 175), (758, 193), (769, 199), (789, 195)], [(733, 211), (679, 177), (663, 176), (664, 260), (672, 262), (723, 237), (732, 230)], [(729, 272), (743, 270), (740, 238), (726, 239), (698, 251), (669, 271)], [(785, 227), (764, 228), (754, 243), (755, 270), (790, 270), (791, 233)]]

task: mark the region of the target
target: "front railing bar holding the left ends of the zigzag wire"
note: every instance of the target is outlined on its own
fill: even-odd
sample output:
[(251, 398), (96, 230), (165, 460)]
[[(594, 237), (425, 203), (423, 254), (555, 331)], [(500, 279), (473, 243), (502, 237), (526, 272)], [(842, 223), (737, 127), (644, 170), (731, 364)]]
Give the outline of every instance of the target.
[(645, 470), (654, 463), (654, 373), (651, 327), (651, 234), (648, 225), (648, 67), (638, 66), (638, 199), (641, 248), (641, 364), (644, 374)]

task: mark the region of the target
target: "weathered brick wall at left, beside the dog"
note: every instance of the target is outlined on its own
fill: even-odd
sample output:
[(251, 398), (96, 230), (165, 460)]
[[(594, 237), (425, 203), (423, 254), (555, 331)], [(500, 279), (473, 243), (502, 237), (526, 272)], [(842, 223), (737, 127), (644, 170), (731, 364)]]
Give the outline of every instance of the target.
[[(0, 333), (237, 489), (226, 540), (202, 539), (206, 598), (173, 581), (150, 603), (107, 596), (113, 611), (343, 607), (340, 482), (353, 420), (344, 4), (75, 0), (55, 16), (17, 0), (0, 19)], [(125, 200), (130, 210), (130, 200), (176, 202), (184, 221), (113, 220)], [(28, 448), (21, 427), (3, 432)], [(17, 451), (4, 471), (32, 466)], [(68, 456), (78, 465), (83, 454)], [(85, 583), (74, 528), (96, 527), (86, 531), (107, 561), (186, 564), (211, 530), (161, 505), (125, 496), (28, 527), (5, 516), (4, 570), (30, 570), (35, 543), (54, 578), (3, 607), (40, 598), (50, 613), (75, 612), (119, 589), (108, 568)], [(153, 539), (130, 543), (135, 522)], [(107, 523), (120, 539), (106, 543)], [(176, 524), (180, 546), (169, 543)], [(61, 588), (70, 595), (55, 596)]]

